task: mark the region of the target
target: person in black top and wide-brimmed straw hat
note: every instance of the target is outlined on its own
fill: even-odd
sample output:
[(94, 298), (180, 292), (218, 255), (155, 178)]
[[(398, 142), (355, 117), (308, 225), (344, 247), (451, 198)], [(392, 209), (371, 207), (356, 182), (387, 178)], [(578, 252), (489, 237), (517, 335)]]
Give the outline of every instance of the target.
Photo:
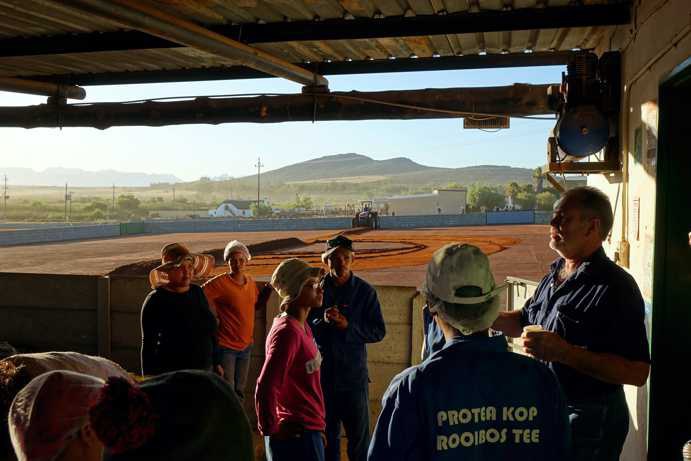
[(192, 283), (213, 267), (213, 256), (192, 254), (181, 243), (161, 249), (161, 264), (149, 273), (153, 291), (142, 305), (143, 375), (218, 365), (216, 319), (204, 291)]

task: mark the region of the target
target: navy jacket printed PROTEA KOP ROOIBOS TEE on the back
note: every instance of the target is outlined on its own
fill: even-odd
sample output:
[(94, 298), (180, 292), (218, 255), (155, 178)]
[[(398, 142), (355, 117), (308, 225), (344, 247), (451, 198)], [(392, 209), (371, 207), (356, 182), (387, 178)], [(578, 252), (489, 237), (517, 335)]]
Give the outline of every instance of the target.
[(457, 336), (396, 376), (368, 461), (563, 460), (570, 431), (554, 374), (504, 336)]

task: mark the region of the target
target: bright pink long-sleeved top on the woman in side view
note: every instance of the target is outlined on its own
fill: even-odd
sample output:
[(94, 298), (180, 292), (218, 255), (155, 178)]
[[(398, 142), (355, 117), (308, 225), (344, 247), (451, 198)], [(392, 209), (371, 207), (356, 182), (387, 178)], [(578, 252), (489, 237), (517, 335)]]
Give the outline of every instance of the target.
[(312, 331), (282, 315), (266, 338), (266, 359), (257, 379), (254, 403), (262, 435), (278, 432), (279, 423), (301, 424), (306, 430), (326, 427), (319, 368), (321, 355)]

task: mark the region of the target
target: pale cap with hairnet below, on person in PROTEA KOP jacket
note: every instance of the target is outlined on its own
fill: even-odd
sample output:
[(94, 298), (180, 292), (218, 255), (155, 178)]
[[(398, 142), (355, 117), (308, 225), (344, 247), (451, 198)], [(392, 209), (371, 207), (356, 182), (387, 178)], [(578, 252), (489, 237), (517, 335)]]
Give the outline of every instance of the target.
[(436, 301), (443, 301), (430, 305), (431, 311), (469, 335), (492, 326), (499, 315), (499, 303), (484, 304), (505, 286), (496, 286), (489, 259), (478, 247), (452, 243), (432, 255), (423, 291)]

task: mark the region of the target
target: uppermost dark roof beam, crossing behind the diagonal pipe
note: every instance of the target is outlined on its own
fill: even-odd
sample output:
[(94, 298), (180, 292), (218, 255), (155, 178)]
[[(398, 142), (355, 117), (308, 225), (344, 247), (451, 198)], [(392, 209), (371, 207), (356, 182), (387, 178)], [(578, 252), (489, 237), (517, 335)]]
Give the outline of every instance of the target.
[[(269, 24), (209, 26), (207, 29), (244, 44), (352, 40), (423, 35), (469, 34), (530, 29), (621, 25), (631, 22), (629, 3), (516, 8), (506, 11), (446, 15), (395, 16), (381, 19), (328, 19)], [(165, 38), (138, 31), (82, 33), (49, 38), (0, 40), (0, 57), (97, 51), (177, 48)]]

